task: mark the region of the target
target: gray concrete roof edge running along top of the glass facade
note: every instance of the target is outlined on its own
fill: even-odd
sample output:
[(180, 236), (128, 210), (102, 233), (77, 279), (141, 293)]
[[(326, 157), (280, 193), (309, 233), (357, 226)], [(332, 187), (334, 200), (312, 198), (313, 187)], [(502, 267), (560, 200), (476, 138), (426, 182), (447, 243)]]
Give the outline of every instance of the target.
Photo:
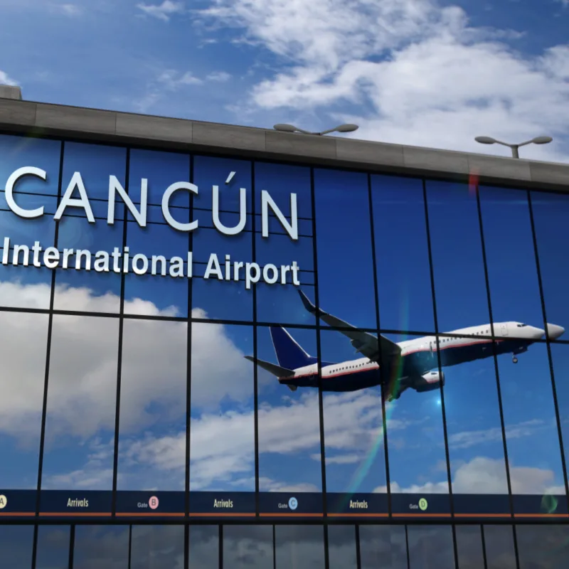
[[(0, 131), (569, 191), (569, 164), (0, 98)], [(508, 151), (504, 149), (504, 151)]]

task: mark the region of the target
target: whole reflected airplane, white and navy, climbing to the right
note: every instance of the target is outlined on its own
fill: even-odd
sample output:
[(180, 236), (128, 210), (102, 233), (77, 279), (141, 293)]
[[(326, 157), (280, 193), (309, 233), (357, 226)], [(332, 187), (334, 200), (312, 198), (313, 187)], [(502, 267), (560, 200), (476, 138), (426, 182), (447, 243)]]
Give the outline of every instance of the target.
[[(300, 292), (300, 291), (299, 291)], [(431, 391), (445, 385), (445, 375), (438, 371), (441, 366), (456, 366), (458, 363), (511, 353), (512, 361), (518, 362), (516, 355), (528, 350), (528, 346), (541, 339), (545, 330), (521, 324), (520, 322), (496, 322), (494, 324), (495, 348), (492, 350), (490, 324), (471, 326), (453, 330), (446, 334), (469, 337), (423, 336), (405, 340), (397, 344), (385, 336), (373, 336), (361, 331), (347, 322), (314, 307), (303, 292), (300, 297), (304, 307), (332, 328), (337, 329), (351, 341), (356, 352), (363, 358), (339, 363), (321, 362), (322, 390), (356, 391), (358, 389), (382, 385), (388, 400), (398, 399), (405, 389)], [(561, 336), (565, 329), (548, 324), (551, 339)], [(292, 336), (281, 326), (270, 329), (279, 365), (245, 356), (261, 368), (279, 378), (292, 391), (299, 387), (318, 387), (317, 358), (309, 356)], [(378, 373), (379, 366), (382, 373)], [(398, 380), (398, 381), (394, 381)]]

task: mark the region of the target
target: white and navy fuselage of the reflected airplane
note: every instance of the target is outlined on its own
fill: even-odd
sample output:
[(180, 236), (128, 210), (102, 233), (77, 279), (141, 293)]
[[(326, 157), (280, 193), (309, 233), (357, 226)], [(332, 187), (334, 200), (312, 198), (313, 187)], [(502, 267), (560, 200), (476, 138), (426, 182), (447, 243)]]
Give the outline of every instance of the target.
[[(503, 353), (523, 353), (543, 335), (543, 331), (519, 322), (494, 324), (494, 349), (490, 324), (471, 326), (447, 332), (449, 336), (423, 336), (398, 343), (400, 356), (390, 362), (358, 358), (339, 363), (324, 363), (321, 368), (322, 389), (325, 391), (356, 391), (388, 383), (393, 379), (417, 378), (439, 366), (456, 366)], [(452, 335), (452, 336), (451, 336)], [(468, 336), (468, 337), (464, 337)], [(385, 373), (380, 373), (380, 365)], [(280, 383), (296, 387), (317, 387), (318, 364), (297, 368), (294, 376), (280, 378)], [(425, 389), (427, 390), (427, 389)]]

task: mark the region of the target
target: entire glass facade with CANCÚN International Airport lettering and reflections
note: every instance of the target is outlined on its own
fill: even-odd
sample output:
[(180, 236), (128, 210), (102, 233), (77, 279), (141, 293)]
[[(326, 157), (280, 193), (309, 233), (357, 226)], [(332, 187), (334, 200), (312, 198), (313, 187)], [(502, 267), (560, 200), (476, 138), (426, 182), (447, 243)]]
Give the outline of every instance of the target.
[(568, 218), (0, 135), (6, 566), (565, 567)]

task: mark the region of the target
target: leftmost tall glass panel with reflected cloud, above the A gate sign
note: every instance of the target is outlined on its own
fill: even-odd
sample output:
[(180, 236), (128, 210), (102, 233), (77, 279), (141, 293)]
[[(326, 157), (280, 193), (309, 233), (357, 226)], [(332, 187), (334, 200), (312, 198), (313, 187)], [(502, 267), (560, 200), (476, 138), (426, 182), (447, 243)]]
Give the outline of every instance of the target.
[(36, 489), (48, 315), (0, 313), (0, 486)]

